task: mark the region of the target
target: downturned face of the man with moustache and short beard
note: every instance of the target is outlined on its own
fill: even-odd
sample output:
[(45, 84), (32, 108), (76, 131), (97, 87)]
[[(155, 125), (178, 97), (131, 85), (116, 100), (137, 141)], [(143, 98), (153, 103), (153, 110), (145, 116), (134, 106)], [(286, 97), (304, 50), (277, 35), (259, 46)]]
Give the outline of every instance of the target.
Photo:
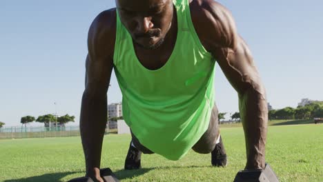
[(134, 43), (146, 49), (161, 45), (173, 19), (172, 0), (116, 0), (116, 4)]

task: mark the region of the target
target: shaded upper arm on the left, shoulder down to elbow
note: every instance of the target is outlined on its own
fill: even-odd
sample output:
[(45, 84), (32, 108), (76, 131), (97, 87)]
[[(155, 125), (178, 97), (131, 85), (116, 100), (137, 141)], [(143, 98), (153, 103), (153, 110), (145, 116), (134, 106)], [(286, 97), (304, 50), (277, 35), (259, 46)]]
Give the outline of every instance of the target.
[(113, 68), (116, 32), (115, 9), (101, 12), (88, 31), (88, 56), (86, 57), (86, 92), (106, 94)]

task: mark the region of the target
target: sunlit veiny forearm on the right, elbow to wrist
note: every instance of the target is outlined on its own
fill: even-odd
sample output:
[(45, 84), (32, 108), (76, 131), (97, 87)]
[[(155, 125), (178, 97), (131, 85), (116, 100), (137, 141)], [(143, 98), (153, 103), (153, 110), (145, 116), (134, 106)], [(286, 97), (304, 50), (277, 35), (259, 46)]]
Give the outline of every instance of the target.
[(264, 88), (249, 88), (239, 94), (239, 110), (246, 140), (246, 169), (264, 168), (268, 121)]

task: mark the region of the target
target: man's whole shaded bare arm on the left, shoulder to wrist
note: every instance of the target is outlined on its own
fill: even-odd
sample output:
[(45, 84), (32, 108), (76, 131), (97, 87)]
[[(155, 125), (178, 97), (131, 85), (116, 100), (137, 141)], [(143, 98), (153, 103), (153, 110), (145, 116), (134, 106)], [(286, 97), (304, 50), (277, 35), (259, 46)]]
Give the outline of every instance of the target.
[(101, 12), (88, 32), (86, 88), (81, 102), (80, 130), (86, 160), (86, 176), (97, 176), (107, 121), (107, 97), (113, 68), (115, 11)]

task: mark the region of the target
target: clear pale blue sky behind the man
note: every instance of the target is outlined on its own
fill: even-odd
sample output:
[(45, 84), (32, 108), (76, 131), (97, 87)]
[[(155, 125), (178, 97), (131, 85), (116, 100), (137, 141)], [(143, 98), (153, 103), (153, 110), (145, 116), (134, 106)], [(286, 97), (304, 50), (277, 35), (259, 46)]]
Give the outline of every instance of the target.
[[(323, 100), (323, 1), (219, 3), (232, 12), (274, 109)], [(6, 127), (26, 115), (53, 113), (72, 114), (70, 125), (79, 124), (88, 28), (114, 7), (109, 0), (0, 1), (0, 121)], [(237, 93), (215, 69), (219, 112), (238, 111)], [(114, 72), (110, 84), (108, 103), (121, 101)]]

